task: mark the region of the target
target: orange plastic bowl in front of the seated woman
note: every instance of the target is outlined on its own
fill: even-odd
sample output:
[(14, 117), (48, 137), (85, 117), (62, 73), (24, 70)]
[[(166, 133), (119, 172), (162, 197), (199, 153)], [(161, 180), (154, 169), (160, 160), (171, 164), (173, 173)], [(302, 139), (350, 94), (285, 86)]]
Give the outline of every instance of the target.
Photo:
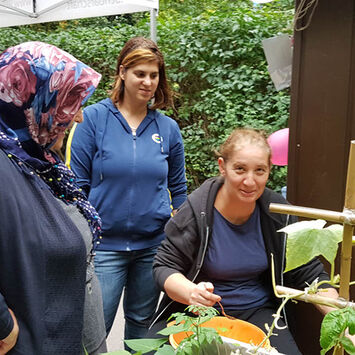
[[(175, 324), (175, 321), (170, 322), (168, 326), (173, 324)], [(201, 327), (214, 328), (217, 333), (223, 337), (253, 345), (259, 345), (266, 336), (265, 333), (254, 324), (240, 319), (228, 319), (221, 316), (213, 317), (209, 321), (201, 324)], [(191, 334), (192, 332), (171, 334), (169, 336), (171, 346), (176, 349), (180, 342)], [(270, 342), (267, 340), (263, 344), (263, 347), (270, 348)]]

